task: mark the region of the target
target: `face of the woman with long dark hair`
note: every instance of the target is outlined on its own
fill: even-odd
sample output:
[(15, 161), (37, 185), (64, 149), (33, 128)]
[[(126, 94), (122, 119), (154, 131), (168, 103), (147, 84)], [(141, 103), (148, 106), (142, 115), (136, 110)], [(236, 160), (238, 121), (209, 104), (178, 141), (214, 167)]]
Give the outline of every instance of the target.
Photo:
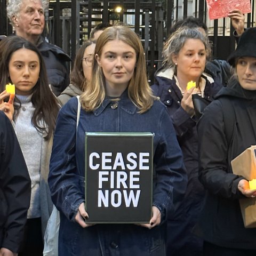
[(15, 91), (20, 95), (29, 95), (39, 78), (40, 62), (38, 55), (31, 50), (21, 48), (12, 53), (9, 61), (9, 75)]

